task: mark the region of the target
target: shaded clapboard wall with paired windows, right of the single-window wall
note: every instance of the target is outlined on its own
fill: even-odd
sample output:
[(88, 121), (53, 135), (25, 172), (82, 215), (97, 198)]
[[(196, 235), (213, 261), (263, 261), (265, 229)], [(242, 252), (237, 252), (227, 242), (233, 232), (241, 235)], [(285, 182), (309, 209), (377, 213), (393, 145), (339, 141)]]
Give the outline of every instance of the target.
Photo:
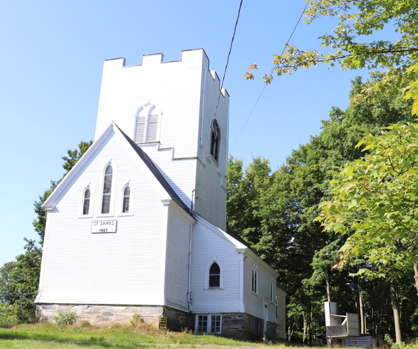
[[(244, 263), (244, 306), (245, 312), (250, 315), (256, 316), (264, 320), (264, 300), (268, 300), (268, 321), (276, 322), (276, 304), (274, 294), (273, 302), (270, 302), (270, 284), (273, 282), (273, 290), (276, 291), (276, 279), (274, 274), (267, 268), (263, 267), (263, 264), (259, 258), (254, 257), (252, 254), (245, 253)], [(251, 273), (253, 265), (256, 265), (257, 278), (258, 278), (258, 293), (251, 292)], [(272, 280), (273, 278), (273, 280)]]

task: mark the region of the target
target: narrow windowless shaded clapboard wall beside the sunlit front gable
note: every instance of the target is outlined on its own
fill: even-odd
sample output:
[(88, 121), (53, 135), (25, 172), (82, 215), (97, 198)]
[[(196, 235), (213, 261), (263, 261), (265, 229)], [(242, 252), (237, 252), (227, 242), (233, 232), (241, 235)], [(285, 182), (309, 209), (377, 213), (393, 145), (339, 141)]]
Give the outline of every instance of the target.
[(183, 311), (189, 311), (189, 239), (190, 224), (169, 209), (165, 302)]

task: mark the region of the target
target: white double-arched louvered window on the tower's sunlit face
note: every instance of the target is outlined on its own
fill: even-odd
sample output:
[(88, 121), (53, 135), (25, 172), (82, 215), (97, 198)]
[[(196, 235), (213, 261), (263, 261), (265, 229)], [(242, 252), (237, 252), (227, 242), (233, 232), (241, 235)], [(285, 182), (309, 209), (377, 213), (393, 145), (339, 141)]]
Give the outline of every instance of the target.
[(160, 133), (161, 109), (157, 104), (148, 102), (137, 113), (134, 139), (136, 142), (158, 141)]

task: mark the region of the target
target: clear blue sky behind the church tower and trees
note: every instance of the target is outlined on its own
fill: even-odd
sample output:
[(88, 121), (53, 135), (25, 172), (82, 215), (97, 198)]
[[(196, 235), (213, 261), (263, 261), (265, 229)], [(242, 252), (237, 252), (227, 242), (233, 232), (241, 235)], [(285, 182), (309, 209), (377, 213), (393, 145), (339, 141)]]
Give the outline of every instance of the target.
[[(222, 78), (239, 0), (1, 1), (0, 117), (2, 121), (0, 265), (22, 253), (33, 231), (33, 201), (63, 174), (68, 149), (93, 139), (104, 59), (203, 47)], [(246, 81), (250, 63), (270, 66), (305, 6), (303, 0), (244, 0), (224, 87), (231, 95), (229, 145), (234, 144), (263, 81)], [(298, 26), (291, 43), (320, 49), (332, 20)], [(245, 164), (262, 156), (277, 169), (299, 144), (320, 131), (334, 106), (348, 105), (350, 79), (366, 72), (301, 70), (275, 77), (231, 155)]]

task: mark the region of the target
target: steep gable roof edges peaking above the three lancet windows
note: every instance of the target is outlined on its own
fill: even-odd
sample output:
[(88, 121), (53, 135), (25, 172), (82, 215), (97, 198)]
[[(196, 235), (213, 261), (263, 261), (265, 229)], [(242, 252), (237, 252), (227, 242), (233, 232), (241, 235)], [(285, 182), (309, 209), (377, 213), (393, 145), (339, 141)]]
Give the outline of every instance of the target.
[[(63, 192), (63, 189), (70, 183), (72, 178), (75, 177), (79, 169), (82, 169), (82, 166), (87, 162), (87, 160), (95, 153), (95, 150), (97, 150), (100, 146), (100, 144), (103, 143), (104, 139), (110, 134), (111, 130), (114, 130), (116, 136), (118, 136), (119, 139), (123, 143), (125, 143), (125, 148), (127, 150), (131, 149), (129, 153), (134, 157), (135, 155), (139, 155), (139, 157), (142, 160), (142, 163), (146, 165), (146, 168), (150, 171), (152, 175), (149, 175), (149, 178), (155, 178), (153, 182), (155, 183), (155, 180), (157, 180), (157, 183), (161, 186), (162, 193), (167, 193), (171, 200), (173, 200), (177, 205), (180, 206), (180, 208), (183, 208), (190, 216), (193, 217), (191, 210), (187, 207), (187, 205), (180, 199), (180, 197), (176, 194), (174, 189), (169, 185), (167, 180), (162, 176), (161, 172), (157, 169), (157, 166), (153, 163), (153, 161), (148, 157), (148, 155), (137, 146), (137, 144), (130, 139), (130, 137), (127, 137), (127, 135), (116, 125), (116, 123), (110, 123), (109, 126), (104, 130), (104, 132), (100, 135), (100, 137), (95, 141), (90, 148), (84, 153), (84, 155), (79, 159), (77, 164), (71, 169), (70, 172), (67, 173), (67, 175), (61, 180), (61, 183), (55, 188), (54, 192), (49, 196), (49, 198), (45, 201), (43, 206), (47, 210), (52, 210), (54, 208), (54, 201), (59, 198), (59, 195)], [(134, 152), (132, 152), (134, 150)], [(134, 155), (135, 154), (135, 155)], [(141, 165), (143, 166), (143, 165)], [(144, 168), (145, 169), (145, 168)], [(158, 185), (157, 185), (158, 186)]]

